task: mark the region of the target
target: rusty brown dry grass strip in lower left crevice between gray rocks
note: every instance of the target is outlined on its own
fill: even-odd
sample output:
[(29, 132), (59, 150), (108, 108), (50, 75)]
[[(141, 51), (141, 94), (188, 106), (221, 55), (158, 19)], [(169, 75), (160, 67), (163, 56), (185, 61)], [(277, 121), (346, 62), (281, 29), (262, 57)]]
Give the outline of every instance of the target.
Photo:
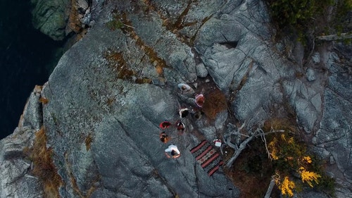
[(42, 181), (44, 197), (59, 197), (58, 187), (63, 182), (51, 159), (53, 151), (51, 148), (46, 148), (46, 133), (44, 128), (35, 133), (33, 147), (27, 149), (25, 153), (27, 153), (34, 164), (32, 174)]

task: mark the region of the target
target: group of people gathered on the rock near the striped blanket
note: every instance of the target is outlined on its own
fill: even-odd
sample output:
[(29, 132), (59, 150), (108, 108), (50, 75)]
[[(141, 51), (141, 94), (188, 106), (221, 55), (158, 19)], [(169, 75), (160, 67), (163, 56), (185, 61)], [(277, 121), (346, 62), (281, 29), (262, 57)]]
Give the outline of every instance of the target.
[[(178, 87), (181, 89), (181, 92), (190, 92), (193, 91), (193, 89), (191, 89), (191, 87), (189, 87), (189, 85), (184, 84), (184, 83), (180, 83), (178, 85)], [(195, 99), (194, 99), (194, 103), (196, 104), (196, 106), (198, 106), (199, 108), (201, 108), (204, 104), (204, 96), (203, 94), (196, 94)], [(190, 110), (187, 108), (182, 108), (179, 110), (179, 115), (180, 115), (180, 119), (185, 118), (189, 115)], [(164, 120), (163, 122), (160, 123), (159, 127), (162, 130), (166, 130), (167, 128), (170, 127), (176, 127), (177, 128), (177, 132), (179, 133), (179, 135), (182, 135), (184, 132), (184, 129), (186, 128), (186, 125), (184, 125), (184, 123), (182, 122), (182, 120), (177, 120), (177, 122), (175, 124), (170, 123), (170, 121), (168, 120)], [(164, 144), (170, 141), (170, 137), (166, 134), (165, 131), (161, 132), (159, 135), (159, 138), (161, 140), (161, 142), (163, 142)], [(180, 157), (181, 152), (180, 150), (177, 148), (176, 145), (174, 144), (170, 144), (170, 146), (168, 147), (168, 149), (165, 149), (165, 155), (168, 158), (173, 158), (176, 159), (178, 157)]]

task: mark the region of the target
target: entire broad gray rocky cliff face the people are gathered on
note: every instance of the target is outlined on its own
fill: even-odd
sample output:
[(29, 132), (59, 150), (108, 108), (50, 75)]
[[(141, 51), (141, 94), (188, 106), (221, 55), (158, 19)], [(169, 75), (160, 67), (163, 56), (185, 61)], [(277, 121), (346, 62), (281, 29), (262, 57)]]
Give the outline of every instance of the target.
[[(288, 112), (327, 161), (337, 197), (352, 197), (351, 48), (323, 44), (303, 67), (298, 43), (272, 42), (261, 1), (92, 1), (91, 11), (94, 25), (0, 142), (1, 197), (239, 197), (189, 149), (221, 137), (228, 123), (251, 129)], [(181, 92), (181, 82), (194, 92)], [(182, 156), (166, 159), (159, 123), (196, 109), (194, 94), (215, 103), (207, 95), (218, 89), (229, 109), (183, 118), (183, 135), (168, 131)], [(61, 178), (44, 190), (23, 154), (41, 130)]]

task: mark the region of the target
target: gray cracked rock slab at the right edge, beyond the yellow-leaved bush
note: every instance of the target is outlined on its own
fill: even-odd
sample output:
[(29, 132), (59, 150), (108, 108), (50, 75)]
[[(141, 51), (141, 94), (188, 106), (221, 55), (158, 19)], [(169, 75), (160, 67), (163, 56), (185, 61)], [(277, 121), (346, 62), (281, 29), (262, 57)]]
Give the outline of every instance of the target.
[[(329, 57), (336, 60), (336, 56)], [(333, 60), (330, 59), (328, 62), (332, 63)], [(337, 163), (337, 169), (333, 171), (334, 175), (343, 175), (343, 178), (337, 177), (337, 182), (343, 186), (337, 190), (339, 197), (352, 196), (352, 161), (348, 157), (351, 155), (351, 145), (348, 140), (351, 140), (352, 135), (352, 73), (348, 67), (350, 64), (335, 62), (327, 65), (332, 74), (329, 76), (327, 89), (324, 92), (323, 116), (314, 142), (328, 151), (334, 163)]]

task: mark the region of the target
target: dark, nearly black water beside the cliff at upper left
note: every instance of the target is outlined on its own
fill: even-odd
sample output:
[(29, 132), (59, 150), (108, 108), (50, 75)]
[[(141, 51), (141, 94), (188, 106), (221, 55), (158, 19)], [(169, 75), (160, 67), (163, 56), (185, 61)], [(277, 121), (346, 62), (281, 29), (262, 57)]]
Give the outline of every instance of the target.
[(34, 30), (30, 1), (0, 0), (0, 139), (18, 125), (35, 85), (43, 85), (62, 46)]

